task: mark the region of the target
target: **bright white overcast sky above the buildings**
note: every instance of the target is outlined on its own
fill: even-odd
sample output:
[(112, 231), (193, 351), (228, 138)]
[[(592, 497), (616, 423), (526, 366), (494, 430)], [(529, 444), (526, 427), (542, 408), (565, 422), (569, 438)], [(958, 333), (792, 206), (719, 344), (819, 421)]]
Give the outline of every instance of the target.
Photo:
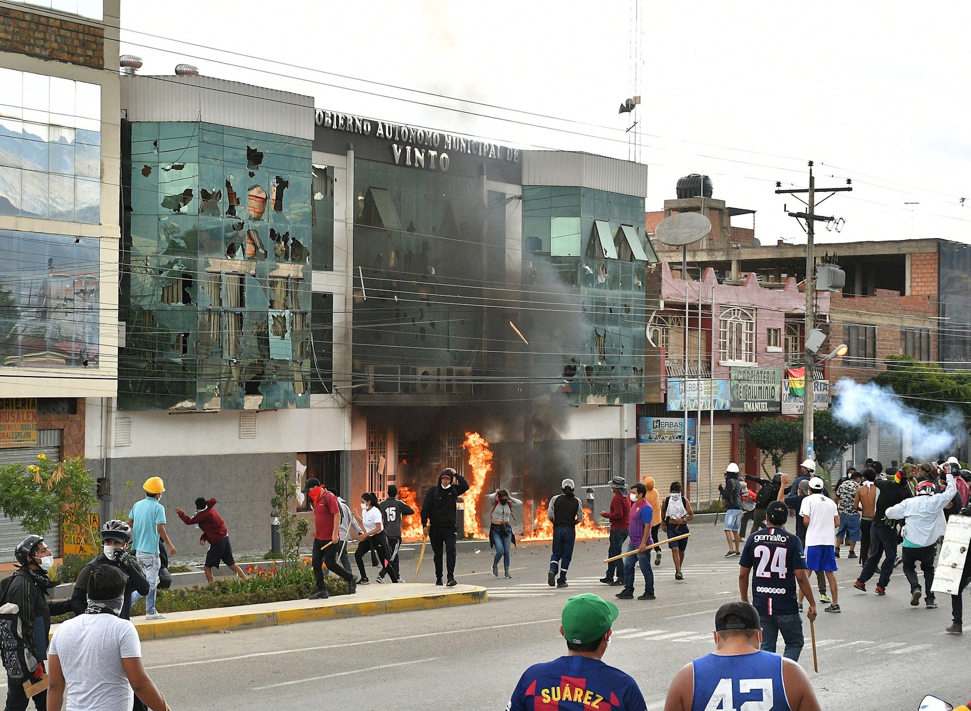
[(121, 51), (145, 59), (143, 74), (188, 61), (318, 108), (621, 158), (632, 149), (618, 107), (640, 94), (649, 210), (706, 172), (715, 197), (757, 211), (763, 244), (804, 242), (784, 213), (801, 206), (773, 190), (805, 186), (812, 159), (817, 186), (854, 180), (820, 207), (846, 220), (820, 242), (971, 243), (964, 4), (641, 2), (641, 32), (630, 0), (121, 5)]

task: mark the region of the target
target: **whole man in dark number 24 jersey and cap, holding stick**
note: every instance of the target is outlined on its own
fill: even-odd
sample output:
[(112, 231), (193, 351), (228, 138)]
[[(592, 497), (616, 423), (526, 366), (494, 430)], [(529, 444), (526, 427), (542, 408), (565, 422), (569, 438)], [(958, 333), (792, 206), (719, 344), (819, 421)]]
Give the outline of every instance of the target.
[(796, 584), (809, 600), (809, 619), (816, 620), (816, 600), (813, 586), (809, 584), (806, 559), (802, 543), (786, 525), (788, 510), (782, 501), (773, 501), (765, 510), (768, 528), (753, 531), (745, 542), (742, 558), (738, 560), (739, 592), (742, 601), (749, 601), (749, 579), (755, 571), (752, 583), (752, 601), (758, 610), (762, 626), (762, 650), (775, 652), (779, 632), (786, 640), (783, 656), (798, 661), (803, 647), (802, 618), (796, 599)]

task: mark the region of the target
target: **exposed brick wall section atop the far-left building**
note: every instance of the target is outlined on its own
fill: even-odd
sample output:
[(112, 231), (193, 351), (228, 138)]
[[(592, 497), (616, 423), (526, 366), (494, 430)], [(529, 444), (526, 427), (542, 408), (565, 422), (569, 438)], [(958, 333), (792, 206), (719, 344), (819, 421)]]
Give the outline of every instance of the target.
[(0, 8), (0, 50), (104, 69), (105, 33), (97, 25)]

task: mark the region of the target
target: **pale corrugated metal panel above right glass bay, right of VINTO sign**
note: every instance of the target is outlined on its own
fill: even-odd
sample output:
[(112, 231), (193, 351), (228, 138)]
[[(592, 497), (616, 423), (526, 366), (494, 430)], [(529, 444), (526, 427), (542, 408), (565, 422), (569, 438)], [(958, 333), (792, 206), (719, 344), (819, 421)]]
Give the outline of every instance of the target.
[(582, 186), (645, 197), (648, 166), (604, 155), (568, 151), (522, 153), (522, 185)]

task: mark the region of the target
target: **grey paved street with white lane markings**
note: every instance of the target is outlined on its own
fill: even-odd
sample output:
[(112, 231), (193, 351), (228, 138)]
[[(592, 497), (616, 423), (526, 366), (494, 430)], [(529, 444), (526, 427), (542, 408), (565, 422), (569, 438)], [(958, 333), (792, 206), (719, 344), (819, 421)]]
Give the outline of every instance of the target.
[[(657, 599), (623, 601), (604, 658), (637, 679), (653, 709), (663, 706), (677, 669), (713, 649), (713, 613), (738, 594), (738, 565), (721, 557), (720, 527), (696, 525), (692, 532), (685, 580), (673, 579), (665, 555)], [(526, 666), (565, 652), (557, 627), (566, 597), (619, 591), (596, 582), (606, 547), (578, 542), (570, 588), (552, 590), (549, 545), (521, 546), (516, 577), (507, 581), (489, 574), (484, 543), (480, 554), (460, 555), (457, 572), (461, 582), (488, 586), (485, 604), (151, 641), (146, 664), (175, 709), (500, 709)], [(820, 612), (820, 674), (811, 674), (823, 708), (909, 711), (925, 693), (966, 700), (971, 634), (943, 632), (949, 598), (937, 610), (911, 608), (899, 569), (886, 597), (855, 592), (857, 561), (840, 562), (844, 612)], [(405, 575), (414, 565), (404, 563)], [(433, 580), (429, 556), (420, 577)], [(801, 661), (811, 671), (808, 632)]]

